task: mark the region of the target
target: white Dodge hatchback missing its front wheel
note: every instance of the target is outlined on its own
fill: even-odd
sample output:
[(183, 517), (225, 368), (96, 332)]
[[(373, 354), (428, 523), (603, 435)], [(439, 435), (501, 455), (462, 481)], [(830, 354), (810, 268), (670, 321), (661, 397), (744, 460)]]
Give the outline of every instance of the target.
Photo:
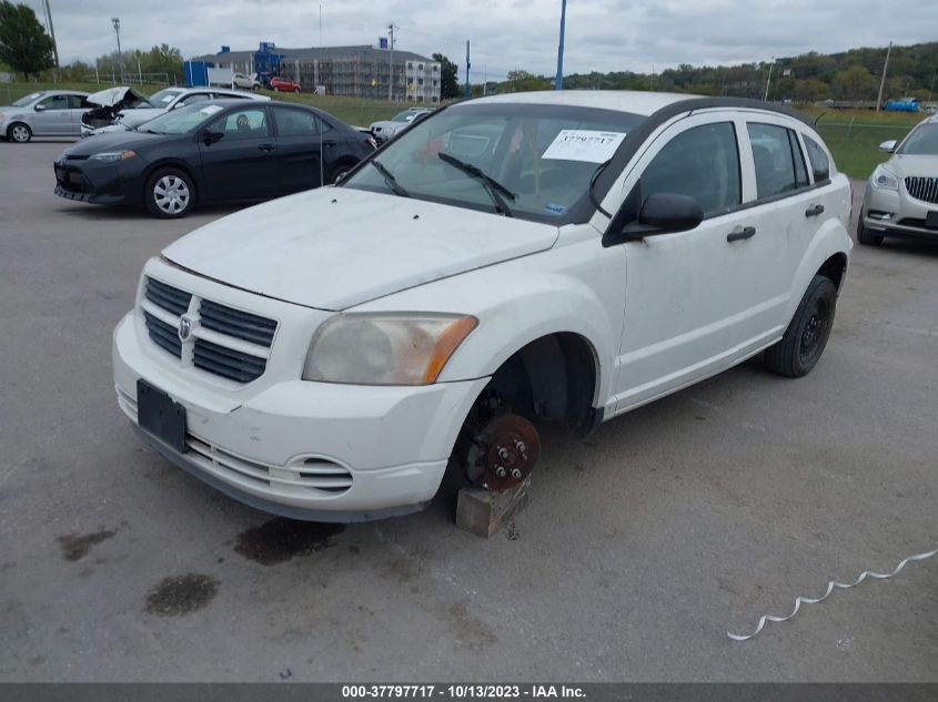
[(601, 421), (834, 322), (849, 185), (797, 113), (558, 91), (440, 110), (335, 187), (213, 222), (143, 268), (118, 400), (167, 459), (288, 517), (493, 490), (537, 419)]

